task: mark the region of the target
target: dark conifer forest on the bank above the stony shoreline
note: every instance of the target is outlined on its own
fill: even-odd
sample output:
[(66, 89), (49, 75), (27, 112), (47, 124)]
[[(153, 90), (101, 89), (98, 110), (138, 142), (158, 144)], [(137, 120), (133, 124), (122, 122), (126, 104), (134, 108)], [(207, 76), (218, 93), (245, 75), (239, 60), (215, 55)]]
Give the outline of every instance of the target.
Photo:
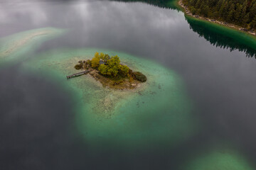
[(183, 0), (193, 15), (256, 30), (256, 0)]

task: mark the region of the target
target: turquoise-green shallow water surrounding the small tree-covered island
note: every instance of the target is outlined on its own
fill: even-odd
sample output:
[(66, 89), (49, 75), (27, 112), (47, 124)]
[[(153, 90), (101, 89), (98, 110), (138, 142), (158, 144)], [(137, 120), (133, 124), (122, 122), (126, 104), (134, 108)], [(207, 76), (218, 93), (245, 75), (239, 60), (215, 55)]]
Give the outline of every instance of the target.
[[(103, 88), (89, 75), (65, 79), (77, 72), (73, 67), (78, 61), (90, 59), (96, 51), (118, 55), (122, 63), (143, 72), (148, 81), (135, 90), (118, 91)], [(25, 66), (49, 75), (55, 72), (52, 79), (75, 91), (74, 121), (82, 137), (95, 147), (102, 143), (134, 149), (174, 147), (197, 131), (182, 79), (153, 61), (111, 50), (70, 49), (38, 55)]]

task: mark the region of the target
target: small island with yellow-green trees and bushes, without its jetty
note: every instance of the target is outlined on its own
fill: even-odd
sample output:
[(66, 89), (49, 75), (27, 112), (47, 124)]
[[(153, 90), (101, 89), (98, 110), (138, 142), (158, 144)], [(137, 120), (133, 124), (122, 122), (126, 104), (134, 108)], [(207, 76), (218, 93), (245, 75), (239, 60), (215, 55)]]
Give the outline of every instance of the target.
[[(146, 81), (146, 76), (141, 72), (133, 72), (120, 63), (119, 57), (96, 52), (92, 60), (81, 60), (75, 65), (75, 69), (84, 70), (104, 87), (111, 89), (135, 89)], [(68, 77), (67, 77), (68, 78)]]

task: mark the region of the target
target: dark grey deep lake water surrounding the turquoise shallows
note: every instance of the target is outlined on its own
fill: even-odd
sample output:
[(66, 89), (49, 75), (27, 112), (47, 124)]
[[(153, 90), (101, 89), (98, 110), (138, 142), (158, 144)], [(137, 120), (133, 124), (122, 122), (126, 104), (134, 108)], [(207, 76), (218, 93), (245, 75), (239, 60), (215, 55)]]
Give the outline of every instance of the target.
[(166, 152), (92, 150), (69, 131), (70, 96), (58, 84), (22, 74), (16, 64), (0, 72), (1, 169), (179, 169), (186, 158), (222, 140), (255, 162), (256, 61), (250, 57), (255, 55), (250, 41), (149, 4), (1, 1), (0, 37), (48, 26), (70, 28), (70, 33), (44, 43), (38, 53), (58, 47), (106, 48), (173, 69), (185, 81), (203, 128)]

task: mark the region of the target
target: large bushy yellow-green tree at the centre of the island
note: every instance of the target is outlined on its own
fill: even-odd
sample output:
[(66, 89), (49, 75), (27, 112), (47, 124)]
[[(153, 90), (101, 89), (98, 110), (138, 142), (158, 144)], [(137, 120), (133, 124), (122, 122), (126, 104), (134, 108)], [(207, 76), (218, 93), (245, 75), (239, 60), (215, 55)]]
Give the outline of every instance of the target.
[[(100, 56), (103, 57), (103, 55)], [(129, 73), (129, 67), (120, 64), (120, 60), (117, 55), (111, 58), (109, 55), (104, 55), (102, 60), (107, 60), (107, 63), (100, 65), (99, 70), (101, 74), (108, 75), (110, 77), (117, 77), (117, 75), (126, 77)]]

